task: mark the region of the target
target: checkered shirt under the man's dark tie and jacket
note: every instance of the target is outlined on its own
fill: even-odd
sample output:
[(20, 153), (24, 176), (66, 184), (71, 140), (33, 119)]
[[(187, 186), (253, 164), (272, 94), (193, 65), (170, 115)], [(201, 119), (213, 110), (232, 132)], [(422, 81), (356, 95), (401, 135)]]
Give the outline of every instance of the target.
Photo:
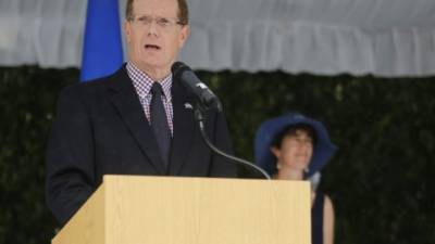
[[(140, 104), (142, 105), (145, 116), (147, 116), (148, 123), (151, 124), (150, 119), (150, 104), (152, 99), (151, 87), (154, 80), (151, 79), (146, 73), (137, 68), (132, 62), (127, 62), (127, 73), (129, 78), (133, 80), (133, 86), (136, 89), (136, 93), (139, 97)], [(158, 81), (156, 81), (158, 82)], [(174, 111), (172, 106), (172, 95), (171, 95), (171, 87), (172, 87), (172, 74), (167, 75), (160, 81), (162, 85), (163, 93), (162, 97), (164, 111), (166, 112), (167, 125), (171, 129), (171, 134), (174, 134)]]

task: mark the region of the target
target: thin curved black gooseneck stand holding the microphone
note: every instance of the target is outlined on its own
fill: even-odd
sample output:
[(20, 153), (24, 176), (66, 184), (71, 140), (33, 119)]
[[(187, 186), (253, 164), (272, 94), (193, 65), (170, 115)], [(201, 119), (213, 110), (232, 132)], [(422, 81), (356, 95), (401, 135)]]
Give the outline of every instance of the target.
[(239, 165), (244, 165), (244, 166), (248, 166), (250, 168), (253, 168), (257, 171), (261, 172), (261, 175), (263, 175), (265, 179), (271, 180), (271, 176), (269, 176), (269, 174), (266, 171), (264, 171), (262, 168), (258, 167), (257, 165), (254, 165), (254, 164), (252, 164), (252, 163), (250, 163), (248, 160), (245, 160), (245, 159), (232, 156), (232, 155), (229, 155), (227, 153), (224, 153), (223, 151), (219, 150), (216, 146), (214, 146), (210, 142), (210, 139), (207, 137), (207, 133), (204, 131), (204, 125), (203, 125), (203, 121), (206, 120), (206, 117), (203, 116), (203, 112), (204, 111), (206, 111), (206, 107), (203, 107), (201, 104), (197, 103), (197, 105), (195, 106), (195, 118), (198, 121), (199, 130), (201, 131), (202, 139), (206, 142), (207, 146), (209, 146), (209, 149), (212, 152), (214, 152), (215, 154), (217, 154), (220, 156), (223, 156), (225, 158), (228, 158), (228, 159), (231, 159), (231, 160), (233, 160), (233, 162), (235, 162), (235, 163), (237, 163)]

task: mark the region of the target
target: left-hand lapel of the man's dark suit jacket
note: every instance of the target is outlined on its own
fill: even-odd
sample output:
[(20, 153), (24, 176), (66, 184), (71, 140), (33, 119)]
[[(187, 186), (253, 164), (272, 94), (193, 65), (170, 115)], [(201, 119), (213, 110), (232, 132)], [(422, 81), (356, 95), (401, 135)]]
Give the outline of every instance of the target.
[(124, 67), (109, 84), (110, 100), (119, 111), (132, 136), (136, 139), (144, 154), (149, 158), (157, 171), (164, 175), (162, 159), (159, 155), (154, 134), (144, 114), (135, 88)]

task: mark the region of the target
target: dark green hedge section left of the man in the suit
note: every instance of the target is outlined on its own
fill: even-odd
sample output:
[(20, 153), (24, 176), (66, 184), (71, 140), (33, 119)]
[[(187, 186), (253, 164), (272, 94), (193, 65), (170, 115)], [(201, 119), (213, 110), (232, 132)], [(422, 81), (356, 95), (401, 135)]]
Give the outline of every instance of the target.
[(45, 146), (58, 92), (76, 70), (0, 69), (0, 243), (49, 243)]

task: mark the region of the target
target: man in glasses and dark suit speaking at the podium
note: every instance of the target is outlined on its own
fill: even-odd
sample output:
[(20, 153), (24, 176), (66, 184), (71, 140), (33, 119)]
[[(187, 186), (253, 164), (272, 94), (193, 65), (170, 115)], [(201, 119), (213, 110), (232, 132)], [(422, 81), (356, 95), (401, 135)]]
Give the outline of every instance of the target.
[[(124, 31), (129, 61), (115, 74), (64, 89), (47, 150), (47, 203), (64, 224), (103, 175), (234, 177), (213, 155), (194, 119), (195, 97), (172, 77), (188, 36), (185, 0), (128, 0)], [(208, 136), (231, 152), (221, 113)]]

